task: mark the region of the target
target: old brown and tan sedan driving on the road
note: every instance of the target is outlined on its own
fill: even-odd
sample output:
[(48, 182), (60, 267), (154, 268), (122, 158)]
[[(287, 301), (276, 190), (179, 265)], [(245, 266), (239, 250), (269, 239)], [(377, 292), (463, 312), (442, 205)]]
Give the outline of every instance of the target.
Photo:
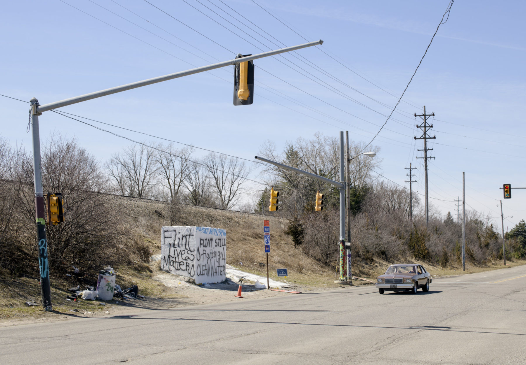
[(422, 265), (397, 264), (389, 266), (385, 274), (378, 276), (376, 287), (380, 294), (385, 291), (410, 291), (411, 294), (417, 294), (418, 288), (428, 292), (431, 281), (431, 275)]

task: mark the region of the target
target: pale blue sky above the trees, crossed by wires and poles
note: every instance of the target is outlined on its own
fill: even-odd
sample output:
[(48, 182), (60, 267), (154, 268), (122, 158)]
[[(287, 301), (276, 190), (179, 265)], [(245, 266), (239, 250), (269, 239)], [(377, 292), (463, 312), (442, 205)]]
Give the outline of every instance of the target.
[[(7, 2), (0, 24), (4, 35), (0, 39), (0, 93), (23, 100), (35, 96), (44, 104), (228, 60), (237, 53), (278, 48), (269, 40), (287, 46), (305, 42), (251, 0), (199, 2), (150, 1), (213, 41), (144, 0)], [(305, 57), (368, 97), (287, 55), (288, 60), (312, 73), (308, 76), (321, 85), (277, 56), (255, 62), (255, 97), (250, 106), (232, 105), (232, 70), (225, 68), (62, 110), (248, 159), (267, 139), (281, 149), (287, 141), (300, 136), (310, 138), (318, 131), (338, 136), (339, 131), (349, 130), (353, 140), (369, 142), (386, 120), (381, 114), (390, 112), (380, 103), (392, 108), (397, 101), (372, 83), (394, 95), (401, 94), (448, 5), (446, 0), (256, 2), (303, 37), (323, 39), (318, 48), (345, 67), (315, 47), (298, 51), (297, 57)], [(429, 164), (429, 191), (433, 198), (449, 200), (430, 199), (442, 214), (456, 209), (456, 201), (452, 200), (461, 196), (462, 171), (466, 171), (469, 207), (494, 218), (500, 218), (497, 204), (502, 198), (499, 187), (503, 183), (526, 187), (526, 174), (521, 168), (526, 162), (522, 153), (526, 134), (521, 108), (526, 89), (522, 19), (525, 10), (526, 4), (519, 1), (457, 0), (402, 99), (400, 113), (393, 114), (396, 120), (390, 120), (374, 142), (381, 147), (378, 157), (382, 158), (382, 175), (407, 186), (404, 167), (412, 162), (419, 168), (419, 182), (413, 187), (423, 193), (422, 160), (415, 159), (421, 156), (415, 150), (422, 148), (422, 143), (412, 138), (419, 132), (414, 130), (411, 115), (421, 113), (423, 105), (436, 114), (431, 133), (437, 139), (430, 142), (431, 155), (436, 159)], [(336, 88), (373, 110), (323, 85)], [(0, 98), (0, 108), (2, 134), (12, 143), (29, 147), (27, 106)], [(103, 161), (128, 144), (54, 113), (46, 112), (40, 120), (43, 137), (53, 131), (75, 135), (80, 145)], [(144, 139), (131, 132), (112, 131)], [(147, 141), (158, 142), (151, 138)], [(525, 190), (514, 190), (513, 198), (504, 201), (505, 216), (514, 217), (504, 226), (511, 227), (526, 217), (523, 194)], [(495, 221), (500, 226), (500, 219)]]

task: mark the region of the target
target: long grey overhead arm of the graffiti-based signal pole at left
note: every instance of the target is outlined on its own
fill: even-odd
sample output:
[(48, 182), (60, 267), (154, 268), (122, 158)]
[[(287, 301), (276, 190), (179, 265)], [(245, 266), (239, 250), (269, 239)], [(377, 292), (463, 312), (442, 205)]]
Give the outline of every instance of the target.
[(223, 62), (219, 62), (219, 63), (214, 63), (213, 65), (197, 67), (195, 69), (190, 69), (190, 70), (186, 70), (186, 71), (180, 71), (180, 72), (176, 72), (176, 73), (170, 73), (170, 74), (167, 74), (165, 76), (154, 77), (153, 79), (132, 82), (132, 83), (129, 83), (129, 84), (126, 84), (126, 85), (117, 86), (115, 88), (95, 91), (95, 92), (92, 92), (92, 93), (89, 93), (89, 94), (75, 96), (74, 98), (64, 99), (64, 100), (56, 101), (54, 103), (40, 105), (40, 106), (38, 106), (38, 110), (37, 111), (38, 111), (38, 113), (42, 113), (42, 112), (46, 112), (48, 110), (62, 108), (63, 106), (66, 106), (66, 105), (76, 104), (76, 103), (80, 103), (80, 102), (83, 102), (83, 101), (86, 101), (86, 100), (100, 98), (101, 96), (106, 96), (106, 95), (115, 94), (115, 93), (118, 93), (118, 92), (121, 92), (121, 91), (136, 89), (136, 88), (140, 88), (140, 87), (143, 87), (143, 86), (146, 86), (146, 85), (151, 85), (151, 84), (154, 84), (154, 83), (157, 83), (157, 82), (177, 79), (179, 77), (188, 76), (188, 75), (191, 75), (191, 74), (194, 74), (194, 73), (215, 70), (217, 68), (230, 66), (230, 65), (238, 65), (241, 62), (256, 60), (258, 58), (264, 58), (264, 57), (268, 57), (268, 56), (279, 55), (279, 53), (285, 53), (285, 52), (295, 51), (295, 50), (301, 49), (301, 48), (321, 45), (322, 43), (323, 43), (323, 41), (320, 39), (320, 40), (317, 40), (315, 42), (309, 42), (309, 43), (305, 43), (305, 44), (298, 45), (298, 46), (281, 48), (281, 49), (277, 49), (277, 50), (274, 50), (274, 51), (258, 53), (257, 55), (241, 57), (241, 58), (237, 58), (237, 59), (233, 59), (233, 60), (228, 60), (228, 61), (223, 61)]

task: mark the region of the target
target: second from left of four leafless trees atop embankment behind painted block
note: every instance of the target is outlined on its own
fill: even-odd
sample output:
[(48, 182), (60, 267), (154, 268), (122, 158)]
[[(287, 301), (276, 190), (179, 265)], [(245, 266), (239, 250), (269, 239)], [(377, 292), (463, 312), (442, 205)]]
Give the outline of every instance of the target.
[(170, 192), (170, 200), (179, 194), (179, 190), (185, 186), (185, 180), (190, 174), (190, 156), (193, 148), (177, 149), (173, 144), (158, 146), (156, 162), (159, 165), (159, 176), (163, 186)]

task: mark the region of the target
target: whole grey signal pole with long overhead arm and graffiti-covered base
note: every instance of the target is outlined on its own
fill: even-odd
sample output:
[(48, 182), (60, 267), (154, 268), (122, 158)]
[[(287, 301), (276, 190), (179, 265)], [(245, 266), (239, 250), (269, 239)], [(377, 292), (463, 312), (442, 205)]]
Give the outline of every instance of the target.
[[(213, 63), (212, 65), (197, 67), (194, 69), (179, 71), (170, 73), (164, 76), (154, 77), (151, 79), (132, 82), (125, 85), (120, 85), (115, 88), (95, 91), (89, 94), (75, 96), (74, 98), (64, 99), (53, 103), (39, 105), (36, 98), (31, 99), (31, 109), (29, 110), (29, 117), (31, 119), (32, 126), (32, 137), (33, 137), (33, 179), (35, 184), (35, 210), (36, 210), (36, 224), (37, 224), (37, 242), (38, 242), (38, 261), (40, 268), (40, 282), (42, 289), (42, 306), (45, 310), (53, 310), (51, 304), (51, 289), (49, 285), (49, 262), (47, 256), (47, 239), (46, 239), (46, 221), (44, 211), (44, 192), (42, 187), (42, 168), (41, 168), (41, 156), (40, 156), (40, 135), (38, 129), (38, 116), (42, 115), (43, 112), (62, 108), (63, 106), (80, 103), (87, 100), (101, 98), (102, 96), (116, 94), (118, 92), (137, 89), (146, 85), (151, 85), (158, 82), (168, 81), (177, 79), (180, 77), (188, 76), (191, 74), (215, 70), (225, 66), (239, 65), (241, 62), (252, 61), (259, 58), (279, 55), (280, 53), (286, 53), (295, 51), (302, 48), (311, 46), (317, 46), (323, 44), (323, 41), (317, 40), (314, 42), (305, 43), (302, 45), (281, 48), (273, 51), (258, 53), (257, 55), (251, 55), (247, 57), (240, 57), (228, 61), (222, 61)], [(268, 267), (268, 265), (267, 265)]]

